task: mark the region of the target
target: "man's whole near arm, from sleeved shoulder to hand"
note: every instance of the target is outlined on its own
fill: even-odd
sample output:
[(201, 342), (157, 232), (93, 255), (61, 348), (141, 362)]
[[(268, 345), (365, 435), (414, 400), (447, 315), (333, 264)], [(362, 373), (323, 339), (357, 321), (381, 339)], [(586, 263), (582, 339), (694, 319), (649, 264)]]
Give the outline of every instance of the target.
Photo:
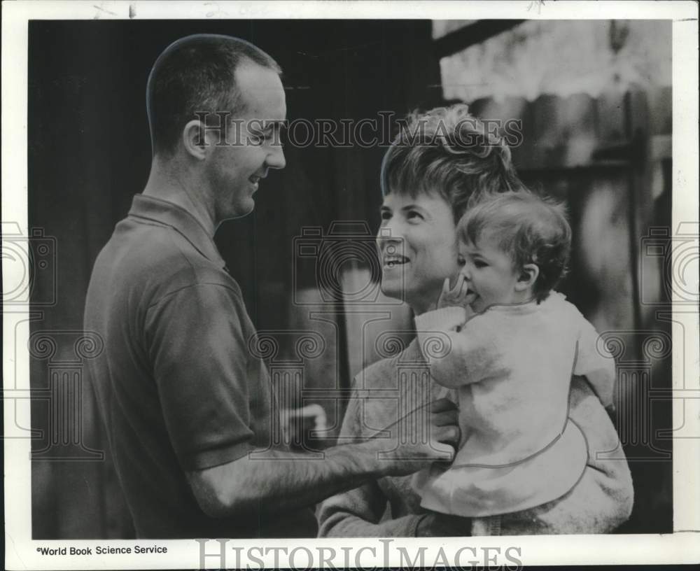
[[(410, 474), (454, 453), (456, 411), (443, 400), (430, 405), (430, 414), (414, 411), (388, 427), (391, 438), (339, 446), (321, 460), (303, 453), (290, 460), (288, 451), (251, 458), (244, 329), (251, 331), (252, 324), (235, 284), (211, 283), (215, 278), (200, 276), (164, 297), (149, 308), (146, 321), (166, 428), (205, 513), (261, 514), (313, 505), (363, 481)], [(428, 432), (430, 441), (422, 442)], [(399, 434), (401, 442), (417, 444), (401, 444)]]

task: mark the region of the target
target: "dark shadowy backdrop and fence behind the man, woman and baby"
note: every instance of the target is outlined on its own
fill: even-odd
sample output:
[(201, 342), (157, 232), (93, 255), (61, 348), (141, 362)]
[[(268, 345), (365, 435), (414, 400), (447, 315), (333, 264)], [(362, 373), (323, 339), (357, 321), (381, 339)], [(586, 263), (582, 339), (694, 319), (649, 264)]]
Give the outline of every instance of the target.
[[(35, 539), (133, 533), (90, 379), (83, 374), (80, 359), (89, 357), (76, 355), (75, 342), (94, 259), (148, 178), (145, 88), (160, 52), (188, 34), (244, 38), (281, 64), (289, 120), (359, 120), (377, 118), (379, 111), (400, 116), (443, 103), (439, 57), (446, 49), (457, 51), (505, 29), (503, 22), (500, 29), (483, 21), (472, 25), (478, 26), (474, 33), (454, 36), (456, 43), (446, 48), (444, 41), (433, 40), (429, 21), (30, 22), (29, 226), (55, 238), (56, 251), (55, 281), (36, 281), (33, 299), (45, 297), (54, 284), (57, 288), (56, 303), (36, 306), (41, 313), (31, 325), (33, 339), (48, 335), (56, 341), (50, 353), (31, 353), (32, 388), (53, 395), (33, 402), (31, 411), (32, 428), (42, 431), (33, 444)], [(567, 201), (575, 232), (572, 271), (561, 290), (598, 330), (615, 331), (624, 339), (620, 362), (647, 363), (641, 371), (627, 367), (618, 395), (618, 410), (626, 414), (618, 419), (618, 429), (636, 489), (635, 511), (620, 531), (670, 532), (671, 441), (657, 438), (657, 430), (671, 428), (670, 401), (654, 404), (651, 425), (635, 421), (648, 414), (643, 410), (650, 388), (671, 386), (670, 356), (646, 359), (642, 351), (646, 338), (640, 332), (668, 332), (668, 323), (643, 311), (645, 280), (657, 282), (654, 302), (668, 299), (659, 267), (652, 265), (640, 275), (639, 251), (650, 227), (670, 226), (670, 150), (650, 153), (654, 137), (671, 133), (670, 90), (468, 103), (482, 117), (523, 120), (525, 140), (514, 149), (519, 172), (526, 182)], [(596, 140), (596, 149), (585, 160), (572, 162), (568, 144), (581, 132)], [(325, 361), (309, 368), (309, 386), (347, 387), (351, 376), (377, 355), (358, 361), (358, 341), (346, 317), (335, 314), (329, 333), (323, 325), (310, 323), (309, 306), (293, 304), (296, 294), (321, 301), (313, 263), (295, 258), (294, 239), (302, 227), (327, 232), (335, 220), (360, 220), (376, 232), (383, 153), (379, 147), (288, 145), (287, 167), (271, 171), (261, 184), (255, 212), (225, 223), (216, 234), (258, 329), (286, 331), (305, 325), (335, 341)], [(650, 191), (652, 169), (663, 175), (660, 195)], [(610, 231), (593, 246), (586, 239), (591, 219)], [(606, 241), (605, 236), (622, 239)], [(623, 268), (624, 287), (611, 286), (611, 266)], [(344, 269), (350, 274), (365, 270), (361, 260)], [(396, 308), (394, 325), (410, 332), (409, 317), (405, 308)], [(281, 346), (288, 350), (285, 341)], [(330, 425), (337, 428), (342, 411), (324, 407)], [(69, 409), (70, 422), (57, 428), (61, 411)]]

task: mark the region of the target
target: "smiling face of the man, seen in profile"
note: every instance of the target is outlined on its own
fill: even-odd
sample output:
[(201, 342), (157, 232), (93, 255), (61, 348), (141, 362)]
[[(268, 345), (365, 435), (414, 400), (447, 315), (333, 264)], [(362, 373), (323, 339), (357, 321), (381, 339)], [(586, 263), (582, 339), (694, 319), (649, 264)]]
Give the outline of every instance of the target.
[(287, 108), (279, 76), (248, 63), (237, 68), (235, 78), (243, 110), (228, 127), (228, 144), (216, 146), (214, 137), (207, 164), (216, 223), (251, 213), (253, 194), (260, 179), (267, 176), (267, 169), (283, 169), (285, 165), (279, 129)]

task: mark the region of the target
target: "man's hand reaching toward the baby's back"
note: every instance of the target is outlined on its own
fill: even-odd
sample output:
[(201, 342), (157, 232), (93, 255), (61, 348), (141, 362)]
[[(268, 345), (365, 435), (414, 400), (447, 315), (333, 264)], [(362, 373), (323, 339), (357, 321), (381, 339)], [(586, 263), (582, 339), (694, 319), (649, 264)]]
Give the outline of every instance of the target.
[(435, 461), (449, 463), (460, 439), (457, 407), (446, 398), (419, 407), (386, 430), (391, 438), (377, 438), (377, 455), (391, 463), (386, 474), (405, 476)]

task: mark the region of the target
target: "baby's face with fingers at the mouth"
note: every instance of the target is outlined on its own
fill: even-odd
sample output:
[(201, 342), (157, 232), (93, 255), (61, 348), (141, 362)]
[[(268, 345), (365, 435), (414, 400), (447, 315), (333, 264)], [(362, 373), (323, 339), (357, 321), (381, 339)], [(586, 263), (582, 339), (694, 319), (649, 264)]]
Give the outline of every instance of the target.
[(498, 242), (488, 234), (477, 242), (459, 243), (460, 273), (469, 288), (469, 306), (480, 313), (493, 304), (519, 302), (515, 291), (518, 272), (510, 255), (500, 250)]

